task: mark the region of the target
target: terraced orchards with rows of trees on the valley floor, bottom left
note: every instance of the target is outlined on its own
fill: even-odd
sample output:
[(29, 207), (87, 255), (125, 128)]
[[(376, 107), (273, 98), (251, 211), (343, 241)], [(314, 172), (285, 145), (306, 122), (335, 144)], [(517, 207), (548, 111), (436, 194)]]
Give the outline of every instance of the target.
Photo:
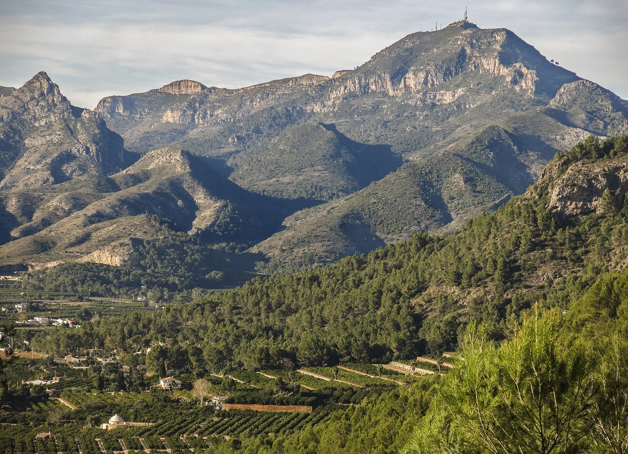
[[(350, 367), (349, 367), (350, 366)], [(97, 392), (80, 379), (60, 384), (62, 397), (75, 408), (68, 409), (45, 397), (24, 398), (26, 423), (19, 414), (0, 416), (0, 454), (126, 454), (169, 452), (210, 454), (231, 438), (257, 435), (288, 435), (314, 426), (334, 411), (346, 409), (349, 403), (359, 404), (377, 387), (394, 387), (411, 382), (415, 377), (386, 370), (382, 377), (371, 364), (347, 364), (339, 367), (305, 367), (300, 370), (232, 370), (227, 375), (238, 382), (222, 389), (222, 374), (207, 375), (212, 395), (225, 393), (229, 403), (311, 406), (311, 413), (274, 413), (215, 409), (207, 400), (195, 399), (191, 390), (176, 392)], [(353, 369), (353, 370), (349, 370)], [(336, 379), (334, 379), (336, 372)], [(386, 380), (386, 376), (398, 382)], [(148, 379), (149, 377), (147, 377)], [(184, 379), (185, 376), (181, 376)], [(283, 384), (278, 379), (283, 380)], [(418, 377), (416, 377), (418, 379)], [(189, 378), (187, 380), (190, 380)], [(192, 379), (194, 380), (194, 379)], [(191, 383), (188, 381), (188, 383)], [(301, 388), (294, 386), (300, 384)], [(222, 395), (222, 394), (221, 394)], [(50, 423), (55, 411), (57, 423)], [(121, 414), (126, 421), (150, 423), (131, 426), (124, 431), (99, 428), (111, 414)], [(40, 416), (36, 416), (40, 415)], [(90, 427), (93, 425), (93, 427)], [(48, 439), (36, 438), (50, 431)]]

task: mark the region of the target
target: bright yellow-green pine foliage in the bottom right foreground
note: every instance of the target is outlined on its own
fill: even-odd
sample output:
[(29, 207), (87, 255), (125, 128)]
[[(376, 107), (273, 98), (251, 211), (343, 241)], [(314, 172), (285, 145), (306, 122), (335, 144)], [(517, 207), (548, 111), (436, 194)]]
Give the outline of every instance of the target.
[(597, 399), (593, 354), (561, 348), (553, 313), (524, 319), (491, 345), (474, 328), (409, 451), (580, 452)]

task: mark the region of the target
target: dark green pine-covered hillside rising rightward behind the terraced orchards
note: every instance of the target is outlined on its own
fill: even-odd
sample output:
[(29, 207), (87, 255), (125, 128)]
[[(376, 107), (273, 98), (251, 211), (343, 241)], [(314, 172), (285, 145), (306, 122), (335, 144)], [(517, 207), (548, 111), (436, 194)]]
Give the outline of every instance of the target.
[[(534, 301), (566, 309), (599, 273), (622, 268), (628, 219), (614, 193), (625, 184), (618, 175), (628, 165), (626, 140), (590, 138), (560, 154), (528, 192), (458, 234), (415, 235), (325, 268), (255, 278), (155, 320), (141, 317), (151, 318), (151, 336), (176, 337), (185, 326), (203, 338), (208, 369), (264, 367), (282, 357), (333, 364), (436, 353), (454, 349), (470, 320), (502, 338), (507, 320)], [(568, 181), (574, 169), (583, 181)], [(605, 177), (595, 185), (587, 171)], [(565, 211), (575, 201), (563, 200), (570, 184), (575, 212)], [(131, 320), (102, 322), (78, 330), (89, 339), (79, 336), (77, 345), (104, 340), (109, 323), (129, 332), (121, 342), (137, 329)]]

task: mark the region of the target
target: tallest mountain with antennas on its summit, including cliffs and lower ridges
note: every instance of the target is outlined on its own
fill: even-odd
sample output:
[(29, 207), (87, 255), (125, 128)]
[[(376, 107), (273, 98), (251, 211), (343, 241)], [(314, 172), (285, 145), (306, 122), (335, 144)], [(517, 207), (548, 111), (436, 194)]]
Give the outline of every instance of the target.
[[(168, 98), (167, 105), (166, 96), (174, 95), (151, 90), (109, 97), (97, 110), (134, 149), (184, 144), (250, 190), (280, 198), (346, 197), (287, 219), (287, 230), (254, 248), (290, 266), (368, 252), (418, 231), (454, 229), (524, 192), (556, 152), (588, 134), (628, 132), (619, 97), (549, 62), (509, 30), (467, 22), (408, 35), (332, 78), (203, 89)], [(141, 107), (134, 107), (139, 100)], [(354, 144), (386, 146), (411, 162), (360, 191), (364, 185), (347, 175), (346, 158), (330, 158), (337, 146), (313, 134), (317, 122)], [(423, 173), (460, 178), (432, 188)], [(474, 181), (471, 193), (465, 179)], [(389, 194), (372, 202), (382, 193)], [(302, 253), (288, 252), (295, 247)]]

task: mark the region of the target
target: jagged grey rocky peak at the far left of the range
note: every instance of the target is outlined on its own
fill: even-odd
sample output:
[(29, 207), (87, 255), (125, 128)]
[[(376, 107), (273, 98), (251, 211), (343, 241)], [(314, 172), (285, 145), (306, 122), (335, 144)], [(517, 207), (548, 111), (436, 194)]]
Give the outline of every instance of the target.
[(107, 175), (124, 163), (122, 138), (70, 104), (45, 72), (0, 98), (0, 151), (0, 190)]

